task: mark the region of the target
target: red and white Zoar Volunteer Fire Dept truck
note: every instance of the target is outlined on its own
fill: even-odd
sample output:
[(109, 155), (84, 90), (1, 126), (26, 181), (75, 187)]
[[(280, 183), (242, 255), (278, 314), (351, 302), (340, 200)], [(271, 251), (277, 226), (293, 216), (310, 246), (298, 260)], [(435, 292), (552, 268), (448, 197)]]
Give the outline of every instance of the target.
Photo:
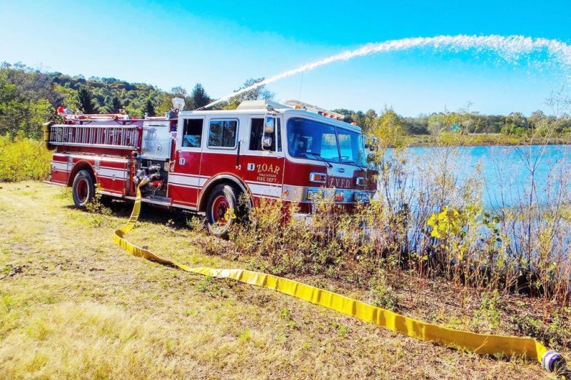
[(244, 101), (231, 111), (181, 111), (173, 99), (164, 118), (70, 115), (46, 123), (54, 149), (49, 183), (71, 186), (84, 207), (96, 192), (133, 200), (143, 178), (142, 201), (205, 212), (209, 230), (224, 235), (248, 195), (298, 202), (310, 214), (312, 200), (330, 194), (351, 207), (368, 202), (376, 183), (361, 130), (342, 115), (299, 101)]

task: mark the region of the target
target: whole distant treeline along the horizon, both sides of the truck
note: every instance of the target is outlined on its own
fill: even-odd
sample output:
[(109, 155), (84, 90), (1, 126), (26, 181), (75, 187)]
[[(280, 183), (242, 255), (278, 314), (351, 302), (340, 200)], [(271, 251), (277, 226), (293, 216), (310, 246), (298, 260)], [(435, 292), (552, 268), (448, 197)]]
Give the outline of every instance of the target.
[[(243, 87), (262, 81), (263, 78), (248, 79)], [(163, 115), (171, 108), (171, 99), (184, 98), (185, 109), (193, 110), (205, 106), (213, 99), (203, 86), (196, 83), (190, 93), (178, 86), (163, 91), (146, 83), (129, 83), (116, 78), (84, 78), (63, 73), (46, 73), (29, 68), (21, 63), (0, 64), (0, 135), (23, 135), (38, 138), (41, 124), (57, 118), (59, 106), (83, 113), (118, 113), (124, 110), (137, 118), (147, 114)], [(236, 108), (243, 100), (272, 99), (273, 93), (263, 86), (248, 91), (225, 103), (219, 108)], [(468, 107), (469, 108), (469, 107)], [(376, 135), (423, 135), (453, 130), (458, 133), (503, 133), (524, 136), (542, 125), (555, 125), (557, 133), (571, 130), (569, 115), (562, 113), (557, 118), (535, 111), (529, 116), (522, 113), (509, 115), (482, 115), (470, 112), (468, 108), (455, 112), (431, 113), (415, 118), (398, 115), (392, 108), (380, 113), (374, 110), (351, 111), (337, 109), (345, 120), (361, 125), (366, 132)]]

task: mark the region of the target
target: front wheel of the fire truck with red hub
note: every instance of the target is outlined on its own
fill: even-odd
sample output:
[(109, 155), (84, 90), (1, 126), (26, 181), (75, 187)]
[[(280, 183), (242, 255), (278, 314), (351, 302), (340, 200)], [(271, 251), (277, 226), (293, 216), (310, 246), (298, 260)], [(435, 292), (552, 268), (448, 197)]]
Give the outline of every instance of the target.
[[(231, 185), (221, 183), (208, 195), (206, 220), (208, 232), (217, 237), (228, 237), (228, 229), (238, 217), (240, 192)], [(228, 210), (231, 210), (230, 212)]]

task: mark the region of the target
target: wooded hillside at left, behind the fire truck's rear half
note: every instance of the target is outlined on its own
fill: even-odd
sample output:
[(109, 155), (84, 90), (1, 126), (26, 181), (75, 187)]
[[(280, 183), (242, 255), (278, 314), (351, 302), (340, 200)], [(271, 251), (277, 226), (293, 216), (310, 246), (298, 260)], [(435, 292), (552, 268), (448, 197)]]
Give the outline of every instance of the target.
[(124, 110), (138, 118), (161, 115), (171, 108), (171, 98), (186, 98), (186, 108), (210, 102), (197, 83), (190, 95), (181, 87), (171, 93), (146, 83), (128, 83), (116, 78), (84, 78), (62, 73), (44, 73), (21, 63), (0, 65), (0, 135), (21, 134), (37, 138), (41, 123), (56, 118), (59, 106), (83, 113), (118, 113)]

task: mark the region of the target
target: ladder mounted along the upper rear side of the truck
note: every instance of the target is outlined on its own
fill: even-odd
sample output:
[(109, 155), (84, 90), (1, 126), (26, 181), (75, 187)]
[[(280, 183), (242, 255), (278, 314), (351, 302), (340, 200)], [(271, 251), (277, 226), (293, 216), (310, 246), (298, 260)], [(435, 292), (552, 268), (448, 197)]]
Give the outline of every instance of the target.
[(50, 145), (84, 146), (110, 149), (136, 149), (140, 128), (137, 125), (54, 124), (49, 126)]

